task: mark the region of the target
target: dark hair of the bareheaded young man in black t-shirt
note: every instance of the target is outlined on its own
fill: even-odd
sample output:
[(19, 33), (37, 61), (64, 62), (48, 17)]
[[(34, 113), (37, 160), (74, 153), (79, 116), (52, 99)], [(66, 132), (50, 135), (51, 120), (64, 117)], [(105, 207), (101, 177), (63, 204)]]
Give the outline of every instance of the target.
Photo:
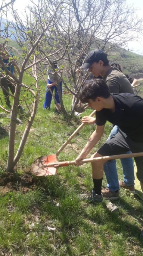
[(80, 93), (80, 101), (87, 103), (89, 99), (95, 101), (97, 97), (108, 98), (110, 91), (103, 79), (94, 79), (87, 82)]

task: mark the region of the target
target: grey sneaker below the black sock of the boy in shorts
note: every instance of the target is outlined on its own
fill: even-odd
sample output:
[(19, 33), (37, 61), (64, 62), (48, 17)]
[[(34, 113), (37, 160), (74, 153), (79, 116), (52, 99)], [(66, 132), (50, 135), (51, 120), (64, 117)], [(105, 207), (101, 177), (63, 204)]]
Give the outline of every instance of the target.
[(103, 196), (95, 194), (94, 190), (88, 194), (80, 194), (80, 198), (88, 203), (98, 203), (103, 201)]

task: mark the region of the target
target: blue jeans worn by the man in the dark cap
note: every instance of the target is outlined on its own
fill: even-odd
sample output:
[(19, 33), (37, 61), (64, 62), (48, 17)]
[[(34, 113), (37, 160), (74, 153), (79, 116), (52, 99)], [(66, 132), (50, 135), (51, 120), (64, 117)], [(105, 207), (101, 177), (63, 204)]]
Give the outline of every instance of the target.
[[(114, 126), (108, 139), (112, 138), (113, 136), (118, 133), (118, 126)], [(108, 140), (107, 139), (107, 140)], [(128, 151), (128, 153), (131, 153), (131, 151)], [(124, 158), (120, 159), (123, 169), (123, 176), (124, 176), (124, 183), (127, 186), (131, 186), (134, 184), (134, 164), (132, 158)], [(118, 174), (116, 169), (116, 160), (111, 160), (110, 162), (106, 162), (103, 165), (106, 180), (107, 180), (107, 187), (111, 191), (116, 191), (119, 189), (119, 182), (118, 182)]]

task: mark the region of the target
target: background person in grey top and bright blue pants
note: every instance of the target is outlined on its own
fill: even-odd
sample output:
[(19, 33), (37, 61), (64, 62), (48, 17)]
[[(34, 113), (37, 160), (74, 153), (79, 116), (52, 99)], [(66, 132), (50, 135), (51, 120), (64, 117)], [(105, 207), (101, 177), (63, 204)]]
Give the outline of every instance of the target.
[[(57, 62), (53, 61), (53, 65), (54, 68), (59, 71), (59, 67), (57, 66)], [(51, 101), (52, 101), (52, 94), (50, 92), (50, 90), (48, 88), (50, 88), (52, 90), (52, 92), (55, 90), (55, 99), (57, 101), (57, 103), (60, 103), (60, 99), (59, 99), (59, 94), (58, 94), (58, 88), (56, 86), (57, 80), (56, 80), (56, 76), (55, 76), (55, 72), (53, 71), (52, 67), (50, 67), (48, 69), (48, 80), (47, 80), (47, 90), (46, 90), (46, 95), (45, 95), (45, 100), (44, 100), (44, 105), (43, 108), (44, 109), (50, 109), (50, 105), (51, 105)], [(57, 73), (57, 77), (60, 79), (60, 75)], [(60, 91), (62, 94), (62, 80), (60, 79)], [(57, 109), (56, 109), (57, 111)]]

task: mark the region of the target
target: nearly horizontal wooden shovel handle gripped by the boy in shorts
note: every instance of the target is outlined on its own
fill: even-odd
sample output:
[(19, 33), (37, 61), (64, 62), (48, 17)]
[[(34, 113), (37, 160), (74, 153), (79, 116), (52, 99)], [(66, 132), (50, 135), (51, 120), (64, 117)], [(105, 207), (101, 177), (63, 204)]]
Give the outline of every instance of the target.
[[(91, 163), (91, 162), (96, 162), (96, 161), (101, 161), (101, 160), (112, 160), (112, 159), (121, 159), (121, 158), (131, 158), (131, 157), (138, 157), (138, 156), (143, 156), (143, 152), (140, 153), (130, 153), (130, 154), (123, 154), (123, 155), (114, 155), (114, 156), (102, 156), (99, 158), (87, 158), (83, 159), (81, 162), (84, 163)], [(63, 166), (68, 166), (68, 165), (73, 165), (75, 164), (75, 161), (65, 161), (65, 162), (53, 162), (44, 165), (44, 167), (63, 167)]]

